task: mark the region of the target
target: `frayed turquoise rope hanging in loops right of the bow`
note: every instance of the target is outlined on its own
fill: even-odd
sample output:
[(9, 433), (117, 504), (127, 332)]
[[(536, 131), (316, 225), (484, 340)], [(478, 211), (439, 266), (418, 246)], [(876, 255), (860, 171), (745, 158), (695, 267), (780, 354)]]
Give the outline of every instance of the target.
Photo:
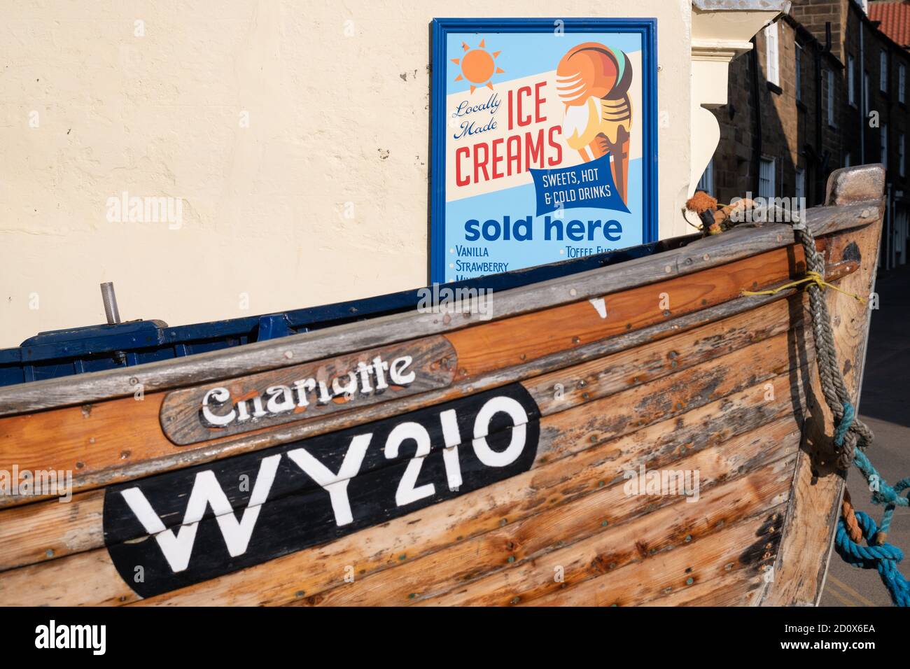
[[(834, 430), (834, 444), (838, 447), (844, 443), (844, 437), (856, 416), (853, 404), (844, 402), (844, 416), (837, 423)], [(865, 446), (866, 444), (857, 444)], [(897, 606), (910, 606), (910, 583), (900, 573), (897, 563), (904, 559), (904, 553), (896, 546), (886, 543), (885, 536), (891, 529), (891, 520), (895, 515), (895, 508), (898, 506), (908, 506), (910, 501), (901, 496), (910, 488), (910, 477), (897, 481), (892, 488), (875, 470), (872, 462), (866, 457), (865, 453), (857, 448), (854, 451), (854, 465), (859, 471), (863, 472), (865, 480), (869, 483), (869, 489), (873, 491), (872, 502), (874, 504), (884, 504), (885, 512), (882, 513), (881, 527), (875, 525), (875, 521), (866, 513), (856, 511), (856, 521), (863, 531), (863, 538), (867, 545), (863, 546), (854, 542), (847, 532), (846, 523), (841, 518), (837, 522), (837, 534), (834, 539), (834, 546), (844, 561), (852, 564), (854, 567), (862, 569), (875, 569), (878, 571), (882, 582), (891, 595), (891, 601)]]

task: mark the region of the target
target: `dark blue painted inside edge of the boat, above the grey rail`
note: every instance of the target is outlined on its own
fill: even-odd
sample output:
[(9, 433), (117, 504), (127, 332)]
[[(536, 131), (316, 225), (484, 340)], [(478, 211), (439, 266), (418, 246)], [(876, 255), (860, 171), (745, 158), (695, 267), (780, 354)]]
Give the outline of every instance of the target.
[[(585, 258), (564, 260), (531, 269), (493, 274), (440, 285), (450, 289), (520, 288), (589, 269), (604, 268), (684, 246), (698, 235), (624, 248)], [(161, 320), (133, 320), (116, 325), (41, 332), (14, 349), (0, 350), (0, 386), (56, 379), (90, 371), (133, 367), (157, 360), (243, 346), (314, 329), (329, 328), (416, 309), (421, 290), (405, 290), (373, 298), (354, 299), (324, 307), (294, 309), (247, 318), (169, 327)]]

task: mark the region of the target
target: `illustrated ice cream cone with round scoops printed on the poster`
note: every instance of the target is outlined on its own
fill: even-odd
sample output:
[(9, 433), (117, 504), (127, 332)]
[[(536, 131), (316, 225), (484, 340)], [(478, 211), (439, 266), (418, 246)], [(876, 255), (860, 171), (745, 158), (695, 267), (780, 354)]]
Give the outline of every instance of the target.
[(611, 154), (613, 182), (623, 202), (629, 180), (631, 84), (629, 57), (596, 42), (574, 46), (556, 68), (556, 90), (566, 106), (566, 144), (585, 162)]

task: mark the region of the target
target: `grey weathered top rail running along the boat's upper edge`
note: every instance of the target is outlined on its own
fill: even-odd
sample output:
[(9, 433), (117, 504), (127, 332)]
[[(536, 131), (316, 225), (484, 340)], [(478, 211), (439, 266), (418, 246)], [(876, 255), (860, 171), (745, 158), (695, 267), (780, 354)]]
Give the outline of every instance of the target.
[[(861, 227), (878, 218), (877, 209), (864, 204), (809, 209), (805, 216), (816, 236)], [(734, 229), (725, 235), (693, 243), (691, 248), (669, 250), (612, 268), (504, 291), (496, 300), (493, 318), (504, 319), (579, 299), (599, 298), (652, 283), (655, 277), (681, 277), (793, 244), (793, 230), (786, 225)], [(455, 309), (467, 310), (461, 305), (456, 305)], [(409, 312), (371, 319), (369, 323), (349, 323), (280, 340), (257, 342), (238, 350), (212, 351), (190, 358), (149, 363), (126, 371), (109, 370), (63, 380), (35, 381), (0, 389), (0, 416), (128, 397), (136, 392), (137, 386), (150, 393), (273, 370), (287, 366), (288, 360), (299, 363), (326, 359), (351, 350), (454, 332), (480, 319), (481, 315), (477, 313), (464, 319), (444, 319), (438, 313)]]

